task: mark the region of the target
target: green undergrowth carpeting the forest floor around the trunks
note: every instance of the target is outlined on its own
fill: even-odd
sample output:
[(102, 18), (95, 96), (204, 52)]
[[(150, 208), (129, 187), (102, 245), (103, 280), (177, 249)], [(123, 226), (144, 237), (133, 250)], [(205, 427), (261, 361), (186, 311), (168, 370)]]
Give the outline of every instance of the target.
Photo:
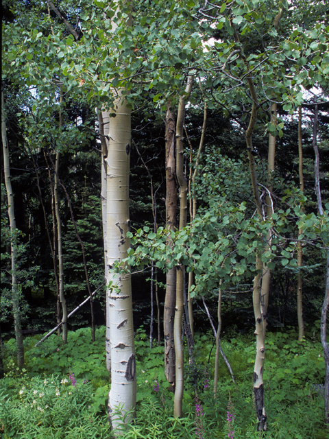
[[(313, 328), (303, 342), (294, 331), (267, 333), (265, 407), (267, 437), (325, 439), (324, 357)], [(25, 368), (14, 362), (16, 344), (5, 343), (5, 378), (0, 381), (0, 437), (4, 439), (111, 438), (107, 418), (110, 377), (105, 361), (105, 328), (69, 332), (68, 343), (51, 335), (25, 340)], [(217, 399), (213, 396), (215, 346), (211, 333), (195, 336), (193, 361), (184, 370), (184, 415), (173, 418), (173, 392), (164, 377), (163, 346), (149, 348), (143, 329), (136, 331), (137, 414), (124, 439), (259, 438), (252, 397), (255, 343), (250, 335), (226, 337), (222, 348), (234, 372), (232, 382), (219, 361)], [(74, 377), (73, 377), (74, 374)], [(76, 382), (75, 382), (76, 381)], [(74, 385), (73, 385), (74, 384)], [(228, 422), (228, 412), (230, 422)], [(118, 414), (118, 416), (122, 416)], [(1, 436), (2, 434), (2, 436)]]

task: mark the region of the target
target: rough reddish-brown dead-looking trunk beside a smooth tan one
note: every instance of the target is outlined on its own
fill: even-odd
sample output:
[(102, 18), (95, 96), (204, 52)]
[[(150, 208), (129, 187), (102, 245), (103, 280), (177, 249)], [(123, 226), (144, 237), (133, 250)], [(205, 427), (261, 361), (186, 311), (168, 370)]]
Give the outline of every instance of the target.
[[(177, 186), (175, 180), (175, 116), (168, 104), (166, 112), (166, 228), (175, 230), (177, 226)], [(172, 246), (170, 241), (168, 246)], [(164, 298), (164, 374), (169, 383), (175, 385), (175, 344), (173, 341), (173, 323), (176, 301), (176, 268), (166, 276), (166, 296)]]

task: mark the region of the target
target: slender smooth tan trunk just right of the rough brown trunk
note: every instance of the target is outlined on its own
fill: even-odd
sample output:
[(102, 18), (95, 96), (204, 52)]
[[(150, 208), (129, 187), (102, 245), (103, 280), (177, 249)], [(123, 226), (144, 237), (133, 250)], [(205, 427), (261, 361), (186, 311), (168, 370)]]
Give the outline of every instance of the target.
[[(193, 77), (188, 76), (188, 84), (185, 92), (186, 96), (180, 96), (178, 104), (178, 115), (176, 123), (176, 175), (180, 187), (180, 230), (186, 226), (187, 219), (187, 180), (184, 176), (184, 120), (185, 102), (184, 99), (191, 94)], [(182, 416), (182, 403), (184, 392), (184, 351), (182, 344), (182, 318), (184, 309), (184, 287), (185, 287), (185, 267), (179, 264), (176, 274), (176, 304), (175, 320), (173, 327), (173, 338), (175, 343), (175, 397), (173, 399), (173, 416)]]

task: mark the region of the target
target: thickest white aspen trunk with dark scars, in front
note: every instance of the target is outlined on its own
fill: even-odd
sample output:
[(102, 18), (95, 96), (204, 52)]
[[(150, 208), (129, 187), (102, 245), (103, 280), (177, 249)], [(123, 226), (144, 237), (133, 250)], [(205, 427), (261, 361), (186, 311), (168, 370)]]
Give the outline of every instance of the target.
[[(108, 316), (111, 348), (111, 389), (108, 414), (114, 429), (123, 422), (113, 412), (136, 408), (136, 357), (134, 347), (134, 325), (132, 320), (132, 287), (129, 273), (112, 271), (115, 261), (127, 257), (130, 239), (127, 231), (129, 219), (129, 173), (131, 116), (123, 90), (117, 91), (110, 123), (110, 141), (106, 158), (107, 211), (106, 241), (108, 264)], [(125, 422), (128, 419), (125, 418)], [(114, 431), (114, 434), (117, 434)]]

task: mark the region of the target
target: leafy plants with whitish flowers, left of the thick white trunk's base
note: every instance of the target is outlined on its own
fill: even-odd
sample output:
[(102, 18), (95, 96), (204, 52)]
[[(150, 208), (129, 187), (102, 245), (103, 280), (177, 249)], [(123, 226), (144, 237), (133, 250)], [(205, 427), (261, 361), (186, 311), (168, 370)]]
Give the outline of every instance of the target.
[(99, 415), (93, 387), (87, 381), (60, 377), (27, 377), (13, 385), (2, 380), (0, 425), (5, 438), (101, 438), (110, 436), (106, 416)]

